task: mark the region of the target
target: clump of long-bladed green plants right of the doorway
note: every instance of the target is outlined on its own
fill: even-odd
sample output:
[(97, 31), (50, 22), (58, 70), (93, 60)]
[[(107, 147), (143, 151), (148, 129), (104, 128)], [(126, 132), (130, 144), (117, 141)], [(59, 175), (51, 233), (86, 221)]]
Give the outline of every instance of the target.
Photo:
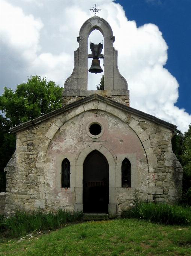
[(122, 212), (122, 218), (137, 218), (170, 225), (191, 224), (191, 207), (170, 204), (137, 203)]

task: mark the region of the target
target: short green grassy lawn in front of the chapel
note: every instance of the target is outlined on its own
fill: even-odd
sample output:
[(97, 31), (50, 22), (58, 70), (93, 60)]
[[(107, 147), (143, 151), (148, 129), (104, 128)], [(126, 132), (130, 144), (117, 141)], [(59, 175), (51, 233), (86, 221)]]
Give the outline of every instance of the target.
[(0, 238), (0, 256), (191, 255), (191, 227), (137, 219), (66, 224), (18, 242)]

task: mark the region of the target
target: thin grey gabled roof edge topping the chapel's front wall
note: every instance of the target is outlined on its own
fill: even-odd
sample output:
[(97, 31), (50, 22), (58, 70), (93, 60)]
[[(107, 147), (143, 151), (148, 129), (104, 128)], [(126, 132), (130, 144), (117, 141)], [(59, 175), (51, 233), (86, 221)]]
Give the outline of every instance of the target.
[(50, 117), (56, 116), (56, 115), (61, 114), (65, 111), (68, 111), (68, 110), (72, 110), (72, 108), (78, 107), (81, 104), (90, 102), (90, 101), (95, 100), (95, 99), (99, 100), (99, 101), (102, 101), (102, 102), (105, 102), (108, 105), (111, 105), (113, 107), (119, 108), (120, 110), (127, 111), (131, 114), (136, 114), (137, 116), (140, 116), (140, 117), (144, 117), (145, 119), (150, 120), (154, 123), (158, 123), (159, 125), (165, 126), (165, 127), (169, 128), (170, 130), (176, 130), (177, 126), (173, 125), (172, 123), (168, 123), (168, 122), (163, 121), (163, 120), (161, 120), (161, 119), (159, 119), (155, 116), (149, 115), (149, 114), (144, 113), (144, 112), (142, 112), (140, 110), (137, 110), (135, 108), (131, 108), (131, 107), (128, 107), (126, 105), (120, 104), (116, 101), (113, 101), (111, 99), (108, 99), (104, 96), (101, 96), (101, 95), (95, 93), (95, 94), (92, 94), (90, 96), (84, 97), (83, 99), (79, 99), (75, 102), (72, 102), (71, 104), (65, 105), (62, 108), (58, 108), (57, 110), (54, 110), (54, 111), (52, 111), (48, 114), (45, 114), (43, 116), (39, 116), (39, 117), (37, 117), (33, 120), (30, 120), (26, 123), (22, 123), (21, 125), (15, 126), (15, 127), (11, 128), (10, 131), (11, 131), (11, 133), (16, 133), (17, 131), (29, 128), (30, 126), (34, 126), (37, 123), (40, 123), (44, 120), (49, 119)]

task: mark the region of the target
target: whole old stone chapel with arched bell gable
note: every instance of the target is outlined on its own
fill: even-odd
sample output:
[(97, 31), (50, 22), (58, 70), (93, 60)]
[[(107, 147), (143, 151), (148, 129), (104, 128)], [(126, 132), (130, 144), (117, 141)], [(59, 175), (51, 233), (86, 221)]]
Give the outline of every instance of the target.
[[(103, 58), (99, 45), (88, 55), (95, 29), (104, 37), (105, 80), (104, 90), (90, 91), (87, 60)], [(119, 216), (133, 206), (135, 190), (143, 201), (175, 202), (182, 189), (182, 167), (171, 147), (176, 126), (129, 107), (107, 21), (89, 18), (77, 40), (62, 107), (11, 129), (17, 141), (5, 168), (5, 214), (61, 207)]]

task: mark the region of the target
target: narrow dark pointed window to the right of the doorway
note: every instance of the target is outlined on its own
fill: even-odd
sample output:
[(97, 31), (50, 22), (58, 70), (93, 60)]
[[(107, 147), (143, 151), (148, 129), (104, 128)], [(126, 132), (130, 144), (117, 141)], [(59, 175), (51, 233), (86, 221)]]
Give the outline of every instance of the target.
[(131, 187), (131, 163), (125, 158), (121, 165), (121, 186)]

